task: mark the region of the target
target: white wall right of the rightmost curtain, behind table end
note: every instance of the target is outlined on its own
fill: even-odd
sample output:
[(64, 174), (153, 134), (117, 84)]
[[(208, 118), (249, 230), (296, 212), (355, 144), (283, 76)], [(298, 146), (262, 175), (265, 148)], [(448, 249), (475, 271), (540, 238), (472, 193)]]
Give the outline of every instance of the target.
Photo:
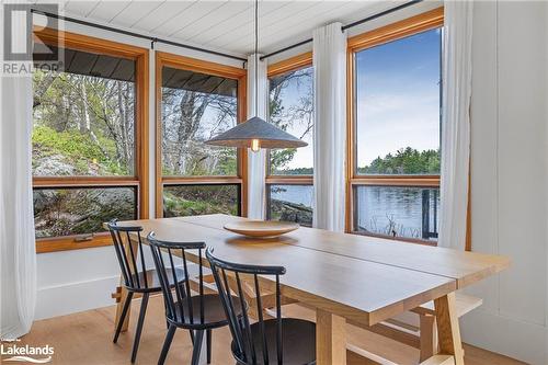
[(512, 267), (470, 292), (465, 341), (548, 364), (547, 21), (543, 2), (476, 2), (472, 76), (472, 248)]

